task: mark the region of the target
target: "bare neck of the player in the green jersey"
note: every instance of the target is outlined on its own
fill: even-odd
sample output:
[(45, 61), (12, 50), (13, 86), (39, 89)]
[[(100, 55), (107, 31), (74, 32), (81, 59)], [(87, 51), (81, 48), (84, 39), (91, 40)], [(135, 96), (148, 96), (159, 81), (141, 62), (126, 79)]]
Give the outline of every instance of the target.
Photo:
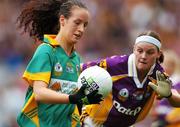
[(60, 46), (64, 49), (68, 56), (71, 55), (74, 45), (68, 43), (65, 38), (63, 38), (60, 34), (58, 34), (55, 40), (60, 44)]

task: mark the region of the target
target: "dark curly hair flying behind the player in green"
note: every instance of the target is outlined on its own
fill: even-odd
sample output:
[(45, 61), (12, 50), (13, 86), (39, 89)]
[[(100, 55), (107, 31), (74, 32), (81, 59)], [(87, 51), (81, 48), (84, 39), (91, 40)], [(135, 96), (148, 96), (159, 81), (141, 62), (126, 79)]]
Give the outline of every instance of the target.
[(44, 34), (58, 33), (59, 16), (69, 18), (73, 6), (87, 9), (79, 0), (30, 0), (17, 18), (17, 27), (30, 37), (43, 40)]

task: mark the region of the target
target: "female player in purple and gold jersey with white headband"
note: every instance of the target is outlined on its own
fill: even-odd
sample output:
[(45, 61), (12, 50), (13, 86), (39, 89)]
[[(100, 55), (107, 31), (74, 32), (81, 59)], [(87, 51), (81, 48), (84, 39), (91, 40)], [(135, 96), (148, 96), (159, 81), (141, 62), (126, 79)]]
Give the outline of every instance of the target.
[[(132, 54), (83, 64), (82, 70), (101, 66), (113, 79), (112, 93), (100, 105), (84, 107), (81, 115), (83, 127), (128, 127), (143, 120), (156, 96), (148, 84), (161, 80), (164, 71), (160, 65), (163, 61), (160, 50), (158, 35), (148, 31), (136, 38)], [(170, 95), (169, 91), (163, 96)]]

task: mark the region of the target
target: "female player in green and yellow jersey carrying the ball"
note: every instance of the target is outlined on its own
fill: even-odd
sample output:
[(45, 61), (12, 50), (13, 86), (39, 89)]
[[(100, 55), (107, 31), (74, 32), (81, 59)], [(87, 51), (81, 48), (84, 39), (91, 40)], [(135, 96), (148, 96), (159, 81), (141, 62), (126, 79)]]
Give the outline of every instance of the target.
[(77, 90), (80, 57), (74, 45), (89, 21), (78, 0), (30, 0), (17, 19), (19, 28), (42, 42), (23, 78), (29, 87), (18, 115), (20, 127), (79, 127), (78, 105), (101, 101), (97, 91)]

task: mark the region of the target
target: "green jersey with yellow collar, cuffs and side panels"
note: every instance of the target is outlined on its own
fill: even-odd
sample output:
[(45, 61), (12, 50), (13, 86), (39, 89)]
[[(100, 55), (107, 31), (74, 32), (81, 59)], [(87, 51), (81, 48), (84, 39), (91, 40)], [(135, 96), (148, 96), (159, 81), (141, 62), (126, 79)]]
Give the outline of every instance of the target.
[(23, 78), (28, 82), (25, 104), (18, 115), (20, 127), (79, 127), (79, 113), (74, 104), (44, 104), (34, 99), (32, 83), (44, 81), (48, 88), (59, 93), (72, 94), (77, 91), (80, 72), (80, 57), (73, 50), (68, 56), (54, 40), (54, 35), (45, 35)]

